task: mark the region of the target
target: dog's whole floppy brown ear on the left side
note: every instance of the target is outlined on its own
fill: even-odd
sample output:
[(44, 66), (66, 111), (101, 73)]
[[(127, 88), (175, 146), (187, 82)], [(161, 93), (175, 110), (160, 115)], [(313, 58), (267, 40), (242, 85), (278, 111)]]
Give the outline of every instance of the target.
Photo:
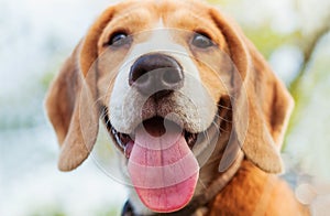
[(112, 17), (108, 9), (90, 28), (53, 82), (45, 101), (61, 145), (58, 168), (70, 171), (89, 155), (98, 134), (98, 40)]

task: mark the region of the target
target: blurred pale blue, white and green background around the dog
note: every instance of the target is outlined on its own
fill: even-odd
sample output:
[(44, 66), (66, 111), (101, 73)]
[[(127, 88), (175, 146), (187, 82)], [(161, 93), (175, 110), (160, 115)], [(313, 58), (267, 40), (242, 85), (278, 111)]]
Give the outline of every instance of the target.
[[(113, 0), (0, 0), (0, 215), (119, 215), (125, 188), (89, 159), (57, 170), (43, 99), (61, 64)], [(213, 0), (296, 100), (283, 175), (314, 215), (330, 210), (330, 1)]]

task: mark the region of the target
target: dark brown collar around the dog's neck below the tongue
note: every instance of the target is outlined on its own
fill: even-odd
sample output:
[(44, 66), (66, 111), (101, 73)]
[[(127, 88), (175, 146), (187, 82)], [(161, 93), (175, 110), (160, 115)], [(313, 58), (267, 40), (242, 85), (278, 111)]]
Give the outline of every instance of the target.
[[(212, 181), (207, 188), (202, 190), (202, 193), (196, 195), (193, 201), (185, 208), (168, 214), (156, 214), (151, 213), (147, 209), (135, 209), (131, 205), (130, 201), (128, 201), (122, 209), (122, 216), (143, 216), (143, 215), (170, 215), (170, 216), (179, 216), (179, 215), (193, 215), (199, 208), (204, 208), (208, 205), (210, 201), (212, 201), (216, 195), (221, 192), (221, 190), (231, 181), (231, 179), (239, 171), (241, 163), (244, 159), (244, 154), (241, 149), (237, 152), (237, 158), (231, 166), (223, 173), (219, 174), (219, 176)], [(136, 197), (138, 198), (138, 197)]]

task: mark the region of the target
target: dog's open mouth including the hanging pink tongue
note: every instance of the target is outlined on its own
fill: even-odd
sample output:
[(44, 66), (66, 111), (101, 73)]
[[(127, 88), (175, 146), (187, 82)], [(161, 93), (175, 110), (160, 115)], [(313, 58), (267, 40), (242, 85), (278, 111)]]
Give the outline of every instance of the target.
[(132, 184), (144, 205), (158, 213), (185, 207), (199, 176), (199, 164), (191, 151), (198, 136), (161, 117), (144, 120), (131, 134), (119, 132), (105, 120), (128, 159)]

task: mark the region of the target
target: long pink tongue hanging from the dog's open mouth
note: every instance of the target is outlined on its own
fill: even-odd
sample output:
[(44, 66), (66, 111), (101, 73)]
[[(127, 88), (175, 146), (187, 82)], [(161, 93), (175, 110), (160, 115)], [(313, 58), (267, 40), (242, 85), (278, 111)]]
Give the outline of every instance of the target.
[(128, 164), (141, 201), (158, 213), (185, 207), (194, 195), (199, 173), (182, 130), (177, 126), (166, 129), (162, 137), (153, 137), (140, 127)]

